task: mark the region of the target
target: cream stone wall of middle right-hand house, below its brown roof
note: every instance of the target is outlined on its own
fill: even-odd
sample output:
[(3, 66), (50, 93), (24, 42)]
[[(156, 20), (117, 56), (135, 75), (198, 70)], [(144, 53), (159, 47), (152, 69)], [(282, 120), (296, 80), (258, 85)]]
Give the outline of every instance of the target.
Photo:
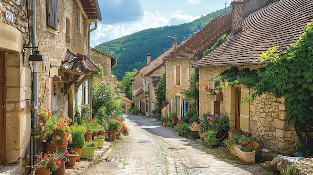
[[(190, 60), (194, 63), (194, 60)], [(176, 68), (175, 68), (176, 67)], [(162, 109), (162, 114), (165, 117), (170, 116), (171, 112), (177, 113), (177, 119), (180, 120), (182, 117), (182, 106), (183, 106), (183, 95), (181, 94), (183, 89), (188, 89), (189, 79), (192, 74), (194, 74), (194, 69), (190, 68), (191, 65), (188, 63), (187, 59), (166, 59), (165, 60), (165, 73), (166, 73), (166, 100), (169, 104), (166, 108)], [(179, 70), (178, 70), (179, 69)], [(176, 73), (175, 73), (176, 71)], [(177, 73), (180, 72), (179, 76)], [(175, 76), (176, 75), (176, 78)], [(180, 78), (181, 77), (181, 78)], [(176, 80), (176, 83), (175, 83)], [(178, 83), (180, 81), (180, 83)], [(175, 104), (176, 96), (176, 104)], [(175, 109), (176, 106), (176, 109)]]

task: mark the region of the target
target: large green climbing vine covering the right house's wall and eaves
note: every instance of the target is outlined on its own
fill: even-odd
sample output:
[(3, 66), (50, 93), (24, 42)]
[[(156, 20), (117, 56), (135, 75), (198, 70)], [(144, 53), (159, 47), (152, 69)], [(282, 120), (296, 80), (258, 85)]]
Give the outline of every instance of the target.
[(287, 118), (298, 132), (301, 125), (313, 120), (310, 110), (313, 106), (313, 23), (304, 27), (302, 36), (286, 51), (274, 55), (277, 49), (275, 46), (261, 54), (259, 59), (264, 68), (238, 70), (232, 67), (211, 81), (221, 80), (221, 87), (244, 84), (253, 89), (255, 92), (246, 101), (264, 93), (284, 97)]

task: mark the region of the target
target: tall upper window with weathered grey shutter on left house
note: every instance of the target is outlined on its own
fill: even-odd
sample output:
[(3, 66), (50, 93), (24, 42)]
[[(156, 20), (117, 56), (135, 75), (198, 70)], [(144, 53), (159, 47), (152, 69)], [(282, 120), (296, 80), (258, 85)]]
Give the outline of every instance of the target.
[(58, 30), (58, 0), (47, 0), (48, 26)]

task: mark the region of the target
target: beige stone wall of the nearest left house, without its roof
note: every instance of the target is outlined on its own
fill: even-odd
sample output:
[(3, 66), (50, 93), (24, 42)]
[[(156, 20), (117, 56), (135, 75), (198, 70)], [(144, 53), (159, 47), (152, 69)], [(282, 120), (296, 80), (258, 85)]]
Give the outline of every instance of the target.
[[(64, 76), (59, 68), (67, 49), (87, 55), (89, 23), (94, 19), (85, 19), (73, 0), (58, 0), (58, 3), (59, 26), (55, 30), (47, 27), (46, 0), (36, 1), (35, 42), (46, 59), (44, 72), (38, 73), (38, 105), (72, 116), (76, 97), (74, 85), (69, 87), (68, 94), (64, 94), (66, 82), (53, 82), (52, 77)], [(6, 19), (6, 11), (12, 14), (13, 22)], [(4, 83), (0, 85), (6, 89), (5, 103), (1, 103), (0, 110), (5, 106), (5, 112), (0, 114), (0, 128), (5, 129), (0, 132), (1, 140), (5, 138), (0, 144), (0, 149), (5, 151), (0, 154), (0, 166), (17, 165), (15, 174), (28, 174), (25, 169), (29, 165), (31, 149), (32, 73), (27, 59), (33, 49), (23, 48), (31, 46), (29, 26), (34, 24), (30, 22), (26, 0), (0, 1), (0, 59), (5, 59), (4, 65), (0, 61), (1, 68), (5, 68), (5, 77), (0, 77)], [(71, 38), (70, 43), (66, 43), (66, 36)]]

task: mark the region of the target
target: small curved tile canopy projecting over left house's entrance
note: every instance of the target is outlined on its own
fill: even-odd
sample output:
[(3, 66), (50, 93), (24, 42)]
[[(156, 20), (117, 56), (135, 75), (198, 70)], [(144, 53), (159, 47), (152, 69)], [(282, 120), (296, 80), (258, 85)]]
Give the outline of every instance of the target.
[(67, 50), (62, 59), (62, 67), (72, 74), (97, 73), (99, 69), (85, 55), (75, 55)]

